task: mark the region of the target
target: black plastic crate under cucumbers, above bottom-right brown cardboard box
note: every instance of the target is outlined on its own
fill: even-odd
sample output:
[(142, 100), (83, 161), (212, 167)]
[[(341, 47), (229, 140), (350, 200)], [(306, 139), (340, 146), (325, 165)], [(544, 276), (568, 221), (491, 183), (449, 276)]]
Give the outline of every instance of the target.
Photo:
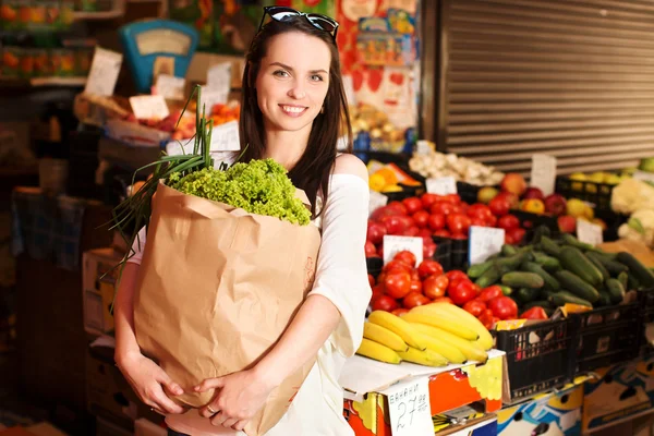
[(570, 315), (576, 325), (577, 371), (594, 371), (639, 355), (643, 336), (641, 303)]

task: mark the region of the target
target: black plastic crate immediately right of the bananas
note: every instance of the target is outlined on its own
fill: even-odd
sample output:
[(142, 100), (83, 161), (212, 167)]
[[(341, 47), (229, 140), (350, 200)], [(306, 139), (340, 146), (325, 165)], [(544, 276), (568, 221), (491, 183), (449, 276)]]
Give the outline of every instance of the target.
[(574, 376), (574, 325), (544, 320), (516, 330), (497, 331), (498, 350), (507, 353), (510, 402), (569, 383)]

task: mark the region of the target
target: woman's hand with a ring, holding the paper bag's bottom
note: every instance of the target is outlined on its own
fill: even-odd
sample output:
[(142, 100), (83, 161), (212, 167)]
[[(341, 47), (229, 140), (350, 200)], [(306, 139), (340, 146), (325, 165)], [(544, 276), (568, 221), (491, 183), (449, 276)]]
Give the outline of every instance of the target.
[(194, 389), (196, 392), (217, 389), (211, 402), (199, 410), (202, 416), (210, 417), (215, 426), (242, 431), (262, 409), (275, 386), (275, 380), (264, 377), (255, 367), (223, 377), (207, 378)]

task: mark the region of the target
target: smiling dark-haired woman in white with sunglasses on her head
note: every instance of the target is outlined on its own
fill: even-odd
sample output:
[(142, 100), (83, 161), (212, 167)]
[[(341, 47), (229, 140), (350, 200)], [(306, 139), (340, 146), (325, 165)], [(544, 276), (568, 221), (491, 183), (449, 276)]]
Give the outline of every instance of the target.
[[(312, 202), (322, 244), (313, 290), (279, 342), (253, 368), (195, 387), (216, 388), (214, 400), (185, 412), (170, 397), (182, 388), (141, 354), (133, 328), (140, 251), (125, 266), (116, 302), (116, 361), (134, 390), (167, 415), (171, 435), (242, 434), (268, 393), (302, 364), (317, 362), (268, 436), (349, 435), (338, 377), (358, 349), (371, 289), (363, 252), (367, 171), (354, 156), (337, 156), (348, 120), (331, 19), (266, 8), (243, 75), (241, 144), (244, 159), (274, 158)], [(262, 20), (264, 24), (264, 20)], [(347, 131), (350, 132), (349, 121)]]

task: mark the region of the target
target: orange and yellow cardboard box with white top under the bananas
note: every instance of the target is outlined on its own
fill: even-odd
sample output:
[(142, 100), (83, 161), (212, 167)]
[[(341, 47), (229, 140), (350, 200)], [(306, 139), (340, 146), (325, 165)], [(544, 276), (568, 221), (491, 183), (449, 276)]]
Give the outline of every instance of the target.
[[(410, 383), (413, 377), (427, 376), (429, 379), (432, 416), (471, 403), (477, 403), (486, 413), (501, 408), (501, 351), (492, 350), (483, 365), (450, 365), (444, 368), (404, 363), (388, 365), (361, 356), (352, 359), (353, 364), (346, 365), (340, 382), (346, 388), (343, 414), (356, 436), (391, 436), (388, 399), (383, 392), (396, 383)], [(407, 370), (402, 370), (402, 365)], [(371, 375), (367, 379), (363, 374), (366, 368)], [(365, 392), (364, 386), (372, 386), (370, 382), (373, 378), (378, 379), (378, 389)]]

